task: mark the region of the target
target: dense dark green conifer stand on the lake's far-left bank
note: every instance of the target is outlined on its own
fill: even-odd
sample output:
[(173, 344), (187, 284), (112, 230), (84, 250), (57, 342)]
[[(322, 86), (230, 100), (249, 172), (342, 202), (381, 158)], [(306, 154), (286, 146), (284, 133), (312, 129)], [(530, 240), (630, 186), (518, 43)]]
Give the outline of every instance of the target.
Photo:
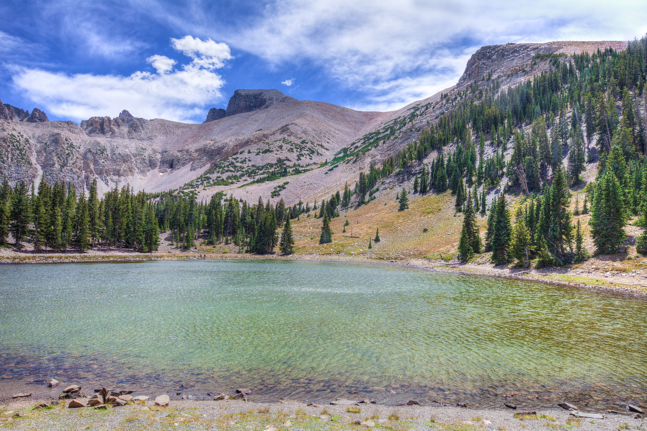
[(144, 192), (135, 194), (128, 186), (97, 196), (96, 180), (88, 196), (77, 193), (73, 184), (47, 184), (35, 188), (24, 181), (11, 187), (5, 180), (0, 190), (0, 244), (8, 235), (16, 247), (26, 240), (34, 251), (85, 251), (93, 246), (116, 246), (155, 251), (159, 226), (155, 205)]

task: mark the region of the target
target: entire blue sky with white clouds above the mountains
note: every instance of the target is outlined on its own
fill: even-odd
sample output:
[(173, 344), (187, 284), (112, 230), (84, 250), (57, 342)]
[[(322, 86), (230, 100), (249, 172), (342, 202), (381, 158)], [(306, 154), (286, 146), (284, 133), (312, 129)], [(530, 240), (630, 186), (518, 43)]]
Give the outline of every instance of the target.
[(645, 12), (644, 1), (5, 0), (0, 99), (77, 123), (122, 109), (201, 122), (241, 88), (393, 110), (455, 83), (483, 45), (633, 39)]

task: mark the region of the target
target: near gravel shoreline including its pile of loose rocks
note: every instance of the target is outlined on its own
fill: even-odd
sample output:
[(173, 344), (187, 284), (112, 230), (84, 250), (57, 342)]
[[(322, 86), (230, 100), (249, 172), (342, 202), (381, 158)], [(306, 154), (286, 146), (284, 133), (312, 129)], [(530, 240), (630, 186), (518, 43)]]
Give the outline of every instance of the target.
[(644, 417), (647, 417), (628, 411), (584, 412), (566, 402), (560, 403), (561, 408), (521, 411), (512, 404), (507, 410), (485, 410), (425, 406), (413, 400), (402, 405), (364, 399), (332, 399), (329, 403), (280, 399), (276, 403), (258, 403), (250, 400), (252, 394), (245, 388), (234, 395), (217, 394), (213, 401), (170, 401), (167, 394), (133, 397), (122, 394), (133, 393), (131, 391), (115, 392), (107, 388), (95, 389), (93, 395), (85, 396), (81, 390), (76, 385), (68, 386), (61, 392), (60, 400), (23, 396), (0, 401), (0, 426), (26, 426), (28, 430), (92, 429), (105, 425), (108, 429), (122, 430), (161, 430), (167, 426), (196, 430), (240, 429), (245, 426), (250, 430), (266, 431), (511, 430), (518, 427), (545, 430), (547, 426), (589, 426), (588, 429), (617, 430), (624, 426), (642, 429), (637, 427), (644, 425)]

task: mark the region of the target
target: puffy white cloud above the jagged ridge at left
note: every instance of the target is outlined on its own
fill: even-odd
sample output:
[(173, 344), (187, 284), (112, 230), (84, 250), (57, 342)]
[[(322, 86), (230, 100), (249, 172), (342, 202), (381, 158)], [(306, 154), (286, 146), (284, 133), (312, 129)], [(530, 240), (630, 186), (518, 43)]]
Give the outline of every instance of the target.
[(143, 118), (189, 121), (202, 116), (204, 104), (220, 98), (225, 81), (214, 72), (232, 58), (229, 47), (211, 39), (185, 36), (171, 45), (192, 59), (177, 61), (155, 55), (146, 59), (157, 73), (138, 71), (130, 76), (64, 74), (39, 68), (14, 67), (14, 86), (46, 112), (74, 120), (116, 116), (122, 109)]

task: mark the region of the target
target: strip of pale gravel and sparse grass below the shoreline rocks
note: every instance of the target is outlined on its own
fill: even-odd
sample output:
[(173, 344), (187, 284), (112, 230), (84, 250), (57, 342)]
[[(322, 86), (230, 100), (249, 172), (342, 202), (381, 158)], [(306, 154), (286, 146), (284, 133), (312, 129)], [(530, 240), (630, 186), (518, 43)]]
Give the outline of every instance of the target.
[[(152, 394), (154, 395), (154, 394)], [(253, 395), (252, 395), (253, 397)], [(628, 412), (604, 413), (604, 419), (576, 418), (561, 408), (537, 410), (536, 415), (515, 416), (518, 410), (479, 410), (456, 406), (392, 406), (359, 404), (350, 406), (359, 412), (349, 412), (349, 406), (300, 401), (283, 403), (254, 403), (245, 401), (171, 401), (169, 407), (155, 406), (153, 398), (138, 404), (94, 410), (93, 407), (34, 410), (41, 402), (52, 400), (21, 399), (0, 403), (0, 426), (24, 430), (546, 430), (571, 429), (581, 426), (589, 430), (644, 429), (644, 419), (633, 419)], [(54, 401), (56, 402), (56, 401)], [(69, 404), (69, 401), (67, 401)], [(356, 410), (355, 410), (356, 411)], [(10, 412), (10, 413), (9, 413)], [(329, 414), (330, 417), (320, 415)], [(357, 421), (373, 421), (355, 425)], [(273, 425), (273, 426), (272, 426)], [(640, 428), (639, 428), (640, 427)]]

